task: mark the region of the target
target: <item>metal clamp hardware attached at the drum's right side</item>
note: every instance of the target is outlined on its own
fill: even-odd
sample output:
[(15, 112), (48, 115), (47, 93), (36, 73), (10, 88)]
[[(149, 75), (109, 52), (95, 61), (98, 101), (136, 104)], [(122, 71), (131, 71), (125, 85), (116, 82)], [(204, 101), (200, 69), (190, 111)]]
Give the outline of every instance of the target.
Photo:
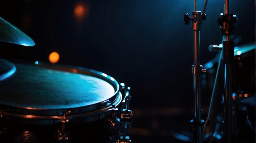
[(121, 103), (120, 108), (120, 123), (122, 124), (122, 135), (117, 141), (118, 143), (131, 143), (130, 137), (127, 136), (127, 128), (132, 124), (132, 111), (129, 110), (129, 103), (131, 99), (130, 87), (125, 87), (124, 83), (120, 84), (120, 91), (124, 95), (124, 100)]

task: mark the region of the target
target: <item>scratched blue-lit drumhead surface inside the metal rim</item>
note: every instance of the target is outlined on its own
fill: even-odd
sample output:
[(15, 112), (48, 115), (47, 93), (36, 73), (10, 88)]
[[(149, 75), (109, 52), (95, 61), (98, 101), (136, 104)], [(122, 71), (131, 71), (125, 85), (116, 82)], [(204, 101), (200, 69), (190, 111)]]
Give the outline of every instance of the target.
[(16, 72), (0, 81), (0, 104), (61, 109), (88, 106), (111, 98), (115, 89), (95, 76), (37, 65), (14, 64)]

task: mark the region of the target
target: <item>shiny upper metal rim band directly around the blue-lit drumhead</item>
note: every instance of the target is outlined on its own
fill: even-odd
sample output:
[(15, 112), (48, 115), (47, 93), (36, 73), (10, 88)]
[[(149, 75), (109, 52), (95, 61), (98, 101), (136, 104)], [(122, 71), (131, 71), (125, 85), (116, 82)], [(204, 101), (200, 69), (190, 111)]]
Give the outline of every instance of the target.
[[(11, 63), (18, 63), (18, 64), (27, 64), (27, 65), (33, 65), (35, 64), (34, 61), (27, 61), (27, 60), (16, 60), (16, 59), (6, 59), (7, 61), (10, 61)], [(11, 106), (8, 104), (0, 104), (0, 114), (20, 114), (20, 115), (46, 115), (46, 116), (60, 116), (65, 113), (69, 113), (70, 115), (75, 114), (81, 114), (81, 113), (87, 113), (89, 111), (97, 111), (101, 110), (103, 108), (106, 108), (112, 104), (115, 104), (115, 101), (119, 98), (119, 84), (117, 80), (112, 78), (111, 76), (108, 76), (107, 74), (103, 72), (96, 71), (94, 69), (88, 69), (85, 67), (79, 67), (74, 65), (65, 65), (65, 64), (51, 64), (51, 63), (45, 63), (45, 62), (38, 62), (38, 65), (43, 68), (50, 68), (55, 70), (60, 70), (63, 72), (72, 72), (76, 74), (83, 74), (83, 75), (89, 75), (94, 76), (99, 79), (102, 79), (106, 82), (108, 82), (114, 89), (115, 93), (108, 98), (107, 100), (104, 100), (103, 102), (97, 102), (95, 104), (87, 105), (87, 106), (79, 106), (74, 108), (31, 108), (31, 107), (25, 107), (25, 106)], [(72, 70), (76, 70), (75, 72)]]

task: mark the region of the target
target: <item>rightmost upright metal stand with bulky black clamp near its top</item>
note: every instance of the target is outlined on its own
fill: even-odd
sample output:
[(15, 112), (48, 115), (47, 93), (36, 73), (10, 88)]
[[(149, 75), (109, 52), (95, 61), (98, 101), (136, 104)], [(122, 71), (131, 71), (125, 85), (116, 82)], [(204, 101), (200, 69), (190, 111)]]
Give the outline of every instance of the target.
[(237, 21), (236, 15), (229, 13), (229, 0), (225, 0), (225, 15), (220, 14), (218, 24), (221, 32), (226, 36), (223, 42), (223, 62), (225, 64), (225, 94), (224, 94), (224, 115), (223, 115), (223, 142), (231, 143), (231, 121), (232, 121), (232, 63), (234, 61), (234, 42), (229, 39), (234, 34), (234, 24)]

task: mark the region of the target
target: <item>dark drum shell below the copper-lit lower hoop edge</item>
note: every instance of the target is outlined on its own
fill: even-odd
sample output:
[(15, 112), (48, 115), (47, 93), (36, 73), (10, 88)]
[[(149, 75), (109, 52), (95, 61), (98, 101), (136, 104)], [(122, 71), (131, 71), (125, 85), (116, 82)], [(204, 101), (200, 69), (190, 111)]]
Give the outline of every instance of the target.
[[(111, 115), (109, 116), (111, 117)], [(68, 134), (69, 143), (106, 143), (113, 137), (105, 127), (105, 119), (77, 124), (65, 124), (66, 134)], [(58, 143), (58, 131), (62, 130), (62, 123), (51, 125), (32, 125), (20, 122), (10, 121), (8, 119), (1, 120), (2, 131), (0, 135), (0, 143), (23, 143), (15, 141), (18, 136), (28, 131), (34, 134), (38, 143)], [(29, 142), (30, 143), (30, 142)], [(34, 142), (33, 142), (34, 143)], [(36, 143), (36, 142), (35, 142)]]

